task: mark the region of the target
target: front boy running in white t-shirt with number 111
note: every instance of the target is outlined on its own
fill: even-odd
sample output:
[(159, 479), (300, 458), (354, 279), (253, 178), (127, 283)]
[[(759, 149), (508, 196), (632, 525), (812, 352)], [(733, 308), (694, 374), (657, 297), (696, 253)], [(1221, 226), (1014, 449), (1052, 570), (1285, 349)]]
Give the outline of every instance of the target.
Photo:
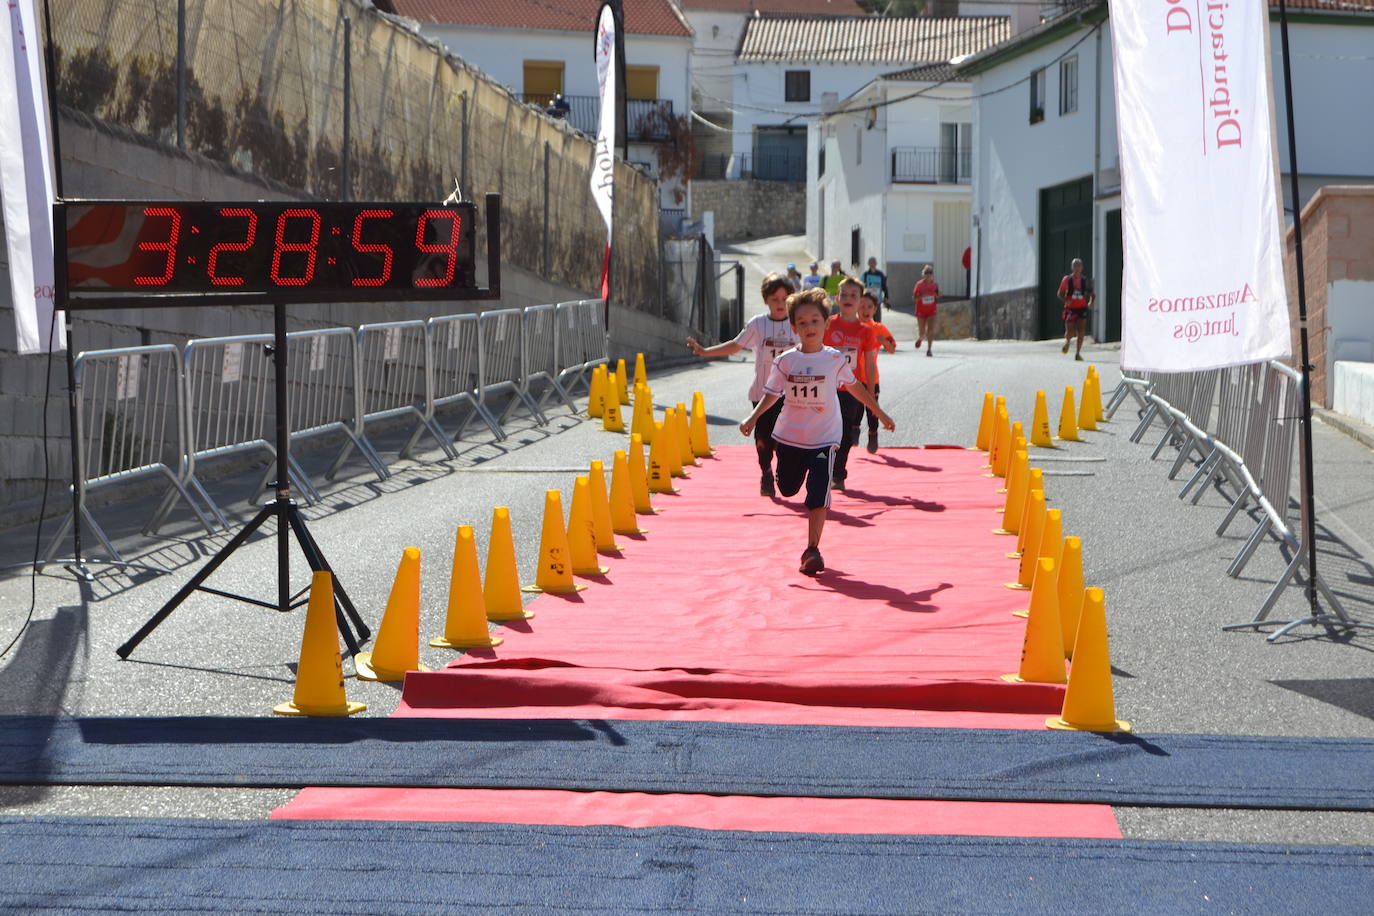
[(801, 573), (816, 575), (826, 569), (820, 556), (820, 533), (830, 505), (830, 470), (845, 435), (838, 387), (849, 385), (851, 397), (872, 408), (883, 428), (894, 430), (896, 426), (868, 390), (857, 385), (844, 354), (823, 345), (829, 314), (824, 291), (807, 290), (787, 297), (787, 314), (801, 343), (774, 361), (764, 385), (764, 400), (739, 424), (739, 431), (749, 435), (758, 419), (786, 396), (774, 427), (778, 489), (783, 496), (793, 496), (802, 483), (807, 485), (807, 549), (801, 553)]

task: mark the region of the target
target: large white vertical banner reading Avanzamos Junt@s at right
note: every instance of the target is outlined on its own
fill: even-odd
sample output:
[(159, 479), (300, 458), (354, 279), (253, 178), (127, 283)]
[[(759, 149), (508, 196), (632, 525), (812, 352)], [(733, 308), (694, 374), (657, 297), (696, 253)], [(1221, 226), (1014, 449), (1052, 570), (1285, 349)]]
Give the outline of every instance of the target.
[(1112, 0), (1121, 367), (1287, 358), (1267, 0)]

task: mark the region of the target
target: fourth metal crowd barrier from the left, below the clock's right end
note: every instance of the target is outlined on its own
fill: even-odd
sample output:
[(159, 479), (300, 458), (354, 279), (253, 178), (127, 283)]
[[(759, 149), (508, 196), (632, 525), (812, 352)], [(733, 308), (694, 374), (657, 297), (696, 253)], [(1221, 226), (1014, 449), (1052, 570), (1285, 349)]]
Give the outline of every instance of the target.
[(444, 430), (434, 423), (429, 325), (425, 321), (385, 321), (357, 330), (359, 438), (376, 455), (367, 438), (367, 423), (415, 415), (415, 428), (397, 453), (409, 457), (416, 439), (429, 433), (448, 457), (458, 457)]

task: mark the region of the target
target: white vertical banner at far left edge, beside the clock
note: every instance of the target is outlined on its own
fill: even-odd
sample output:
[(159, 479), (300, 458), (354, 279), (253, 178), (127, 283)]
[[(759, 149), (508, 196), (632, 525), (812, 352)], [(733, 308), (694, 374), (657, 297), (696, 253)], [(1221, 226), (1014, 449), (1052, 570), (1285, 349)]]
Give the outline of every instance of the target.
[[(0, 14), (0, 196), (19, 353), (47, 350), (52, 321), (55, 172), (33, 0)], [(63, 347), (52, 335), (52, 349)]]

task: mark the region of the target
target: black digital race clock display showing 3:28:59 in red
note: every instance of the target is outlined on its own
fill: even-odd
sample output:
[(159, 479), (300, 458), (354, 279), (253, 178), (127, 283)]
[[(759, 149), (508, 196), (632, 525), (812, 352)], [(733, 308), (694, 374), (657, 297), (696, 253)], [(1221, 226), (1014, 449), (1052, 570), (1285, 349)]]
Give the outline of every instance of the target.
[(473, 203), (65, 201), (58, 308), (495, 298), (496, 195), (486, 217), (484, 290)]

